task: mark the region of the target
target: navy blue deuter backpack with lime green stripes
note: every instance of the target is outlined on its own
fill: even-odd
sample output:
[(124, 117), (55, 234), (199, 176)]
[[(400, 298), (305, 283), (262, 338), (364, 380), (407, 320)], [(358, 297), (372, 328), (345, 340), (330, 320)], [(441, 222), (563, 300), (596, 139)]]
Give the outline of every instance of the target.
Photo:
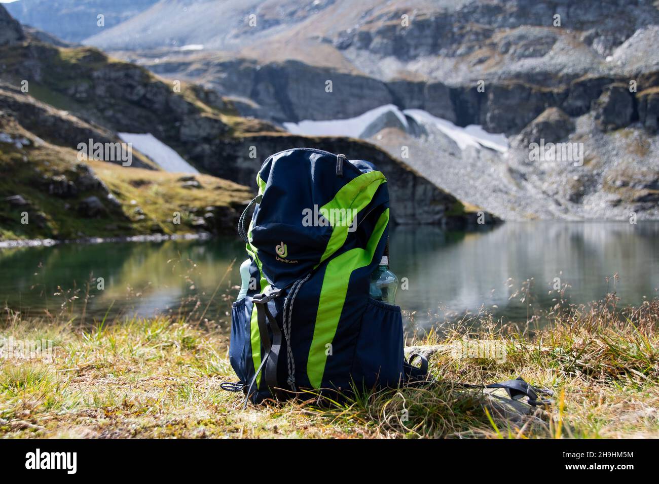
[(258, 403), (424, 379), (427, 362), (403, 355), (401, 308), (369, 297), (387, 245), (385, 176), (366, 161), (297, 148), (269, 157), (256, 181), (239, 222), (251, 283), (231, 313), (239, 383), (223, 388)]

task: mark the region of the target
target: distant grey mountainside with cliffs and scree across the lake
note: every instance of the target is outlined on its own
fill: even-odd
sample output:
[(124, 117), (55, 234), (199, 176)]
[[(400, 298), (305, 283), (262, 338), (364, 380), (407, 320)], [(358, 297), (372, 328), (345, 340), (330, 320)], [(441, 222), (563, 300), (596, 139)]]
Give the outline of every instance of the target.
[[(165, 18), (176, 26), (149, 28)], [(370, 141), (506, 219), (659, 216), (652, 1), (172, 0), (86, 42), (275, 124), (393, 104), (503, 133), (505, 153), (451, 156), (427, 132)], [(582, 149), (583, 159), (533, 160), (540, 140)], [(418, 149), (403, 159), (402, 146)], [(443, 177), (451, 161), (460, 176)]]

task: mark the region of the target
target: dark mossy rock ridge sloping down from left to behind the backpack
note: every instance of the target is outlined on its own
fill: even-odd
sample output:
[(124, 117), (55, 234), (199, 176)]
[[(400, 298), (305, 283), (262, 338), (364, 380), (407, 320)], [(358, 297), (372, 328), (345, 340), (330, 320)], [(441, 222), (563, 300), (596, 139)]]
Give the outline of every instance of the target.
[[(14, 174), (0, 185), (5, 238), (231, 231), (249, 192), (214, 176), (254, 187), (264, 159), (293, 146), (324, 146), (380, 161), (397, 223), (464, 225), (476, 217), (370, 144), (291, 136), (269, 122), (245, 119), (212, 90), (165, 82), (93, 48), (45, 43), (1, 6), (0, 27), (0, 153), (3, 171)], [(81, 161), (74, 150), (89, 139), (120, 142), (119, 132), (148, 132), (214, 176), (163, 173), (135, 149), (130, 167)], [(42, 222), (19, 225), (20, 207), (38, 213)], [(181, 225), (171, 222), (175, 211), (183, 215)], [(67, 213), (72, 220), (61, 225)], [(486, 221), (492, 221), (489, 214)]]

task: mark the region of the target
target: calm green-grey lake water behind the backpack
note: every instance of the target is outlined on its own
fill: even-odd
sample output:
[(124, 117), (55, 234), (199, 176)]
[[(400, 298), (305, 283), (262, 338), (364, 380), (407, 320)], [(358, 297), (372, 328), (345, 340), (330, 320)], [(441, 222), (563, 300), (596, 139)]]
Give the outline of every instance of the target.
[[(622, 304), (656, 296), (658, 240), (656, 222), (506, 223), (478, 232), (399, 227), (391, 234), (391, 269), (401, 279), (397, 302), (416, 311), (421, 327), (482, 307), (496, 317), (525, 321), (529, 302), (532, 308), (552, 306), (555, 278), (569, 284), (567, 296), (574, 303), (614, 289)], [(0, 250), (0, 302), (30, 315), (65, 310), (79, 320), (86, 282), (102, 277), (103, 290), (96, 282), (90, 285), (88, 322), (102, 319), (110, 306), (114, 318), (185, 314), (196, 302), (196, 315), (208, 306), (205, 317), (227, 319), (226, 294), (240, 283), (245, 257), (244, 244), (233, 238), (5, 249)], [(619, 279), (611, 279), (614, 274)], [(527, 284), (522, 302), (515, 292)]]

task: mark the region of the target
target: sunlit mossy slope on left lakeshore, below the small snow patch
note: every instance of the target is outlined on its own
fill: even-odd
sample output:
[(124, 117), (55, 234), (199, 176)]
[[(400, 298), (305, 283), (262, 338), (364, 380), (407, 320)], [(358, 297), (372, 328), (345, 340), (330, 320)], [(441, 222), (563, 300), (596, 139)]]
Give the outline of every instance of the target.
[(45, 142), (0, 113), (0, 241), (233, 232), (251, 196), (214, 176), (77, 159), (76, 150)]

